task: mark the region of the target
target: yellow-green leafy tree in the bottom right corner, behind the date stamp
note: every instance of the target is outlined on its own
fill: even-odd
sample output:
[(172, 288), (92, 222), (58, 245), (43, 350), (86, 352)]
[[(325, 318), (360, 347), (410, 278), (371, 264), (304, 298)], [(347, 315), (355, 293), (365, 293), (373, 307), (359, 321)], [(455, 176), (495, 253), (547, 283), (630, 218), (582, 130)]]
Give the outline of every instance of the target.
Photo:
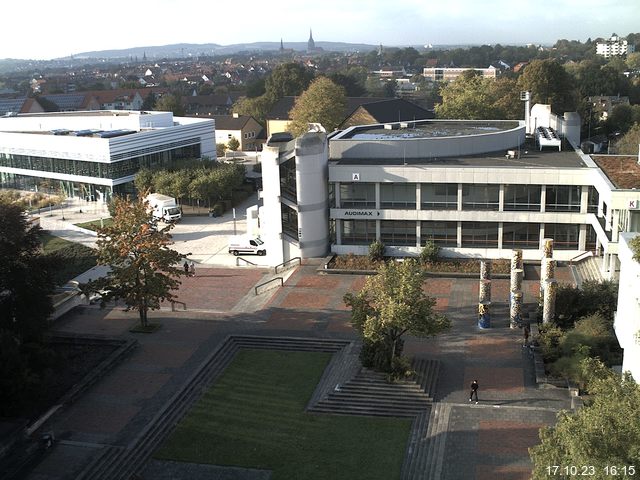
[(575, 413), (561, 412), (554, 426), (541, 429), (540, 445), (529, 449), (534, 480), (548, 479), (553, 465), (593, 466), (590, 478), (595, 479), (612, 478), (612, 466), (621, 478), (632, 476), (621, 467), (638, 468), (640, 386), (630, 374), (620, 377), (597, 359), (586, 359), (582, 370), (589, 378), (590, 399)]

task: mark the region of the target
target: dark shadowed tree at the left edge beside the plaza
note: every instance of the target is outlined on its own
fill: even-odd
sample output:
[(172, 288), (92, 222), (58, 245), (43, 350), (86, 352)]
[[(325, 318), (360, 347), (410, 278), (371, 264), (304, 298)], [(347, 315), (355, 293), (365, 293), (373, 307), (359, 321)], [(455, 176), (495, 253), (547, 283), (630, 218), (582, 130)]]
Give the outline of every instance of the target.
[(54, 265), (41, 255), (40, 232), (0, 198), (0, 331), (17, 345), (39, 341), (53, 311)]

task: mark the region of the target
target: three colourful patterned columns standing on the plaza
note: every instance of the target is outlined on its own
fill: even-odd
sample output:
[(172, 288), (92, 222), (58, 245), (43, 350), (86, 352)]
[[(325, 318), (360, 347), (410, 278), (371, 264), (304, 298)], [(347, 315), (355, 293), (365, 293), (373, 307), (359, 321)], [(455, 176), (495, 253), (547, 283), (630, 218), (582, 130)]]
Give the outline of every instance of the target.
[[(540, 272), (539, 305), (542, 308), (542, 322), (548, 324), (555, 316), (557, 282), (555, 280), (556, 261), (553, 260), (553, 239), (545, 238)], [(509, 327), (522, 326), (522, 280), (524, 263), (522, 250), (513, 250), (509, 285)], [(491, 327), (491, 261), (480, 262), (480, 285), (478, 298), (478, 327)]]

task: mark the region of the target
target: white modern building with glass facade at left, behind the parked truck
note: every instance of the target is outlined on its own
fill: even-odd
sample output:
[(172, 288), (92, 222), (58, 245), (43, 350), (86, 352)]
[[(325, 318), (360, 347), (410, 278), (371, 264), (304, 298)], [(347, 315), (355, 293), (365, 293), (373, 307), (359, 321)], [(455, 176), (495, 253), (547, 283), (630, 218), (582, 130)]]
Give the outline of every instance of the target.
[(91, 111), (0, 118), (0, 187), (108, 200), (142, 167), (215, 160), (215, 122), (171, 112)]

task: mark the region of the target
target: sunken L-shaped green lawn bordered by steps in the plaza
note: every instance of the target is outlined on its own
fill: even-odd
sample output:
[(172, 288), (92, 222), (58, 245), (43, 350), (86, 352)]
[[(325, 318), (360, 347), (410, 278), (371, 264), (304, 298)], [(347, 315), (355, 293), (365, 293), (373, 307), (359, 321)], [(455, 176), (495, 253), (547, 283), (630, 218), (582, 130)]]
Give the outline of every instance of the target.
[(399, 478), (411, 419), (304, 411), (330, 358), (241, 350), (155, 457), (273, 470), (273, 480)]

